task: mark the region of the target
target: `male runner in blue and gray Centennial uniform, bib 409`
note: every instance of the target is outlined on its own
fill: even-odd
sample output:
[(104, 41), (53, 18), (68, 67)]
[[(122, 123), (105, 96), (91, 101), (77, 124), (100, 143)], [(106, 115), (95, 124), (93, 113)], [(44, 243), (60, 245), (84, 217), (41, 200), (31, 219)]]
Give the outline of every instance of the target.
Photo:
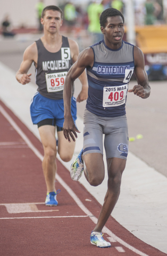
[[(64, 137), (75, 141), (79, 132), (74, 125), (70, 99), (73, 81), (87, 69), (88, 99), (84, 114), (84, 148), (71, 165), (71, 178), (78, 180), (84, 170), (92, 186), (104, 179), (103, 134), (106, 151), (108, 188), (97, 225), (91, 233), (91, 244), (110, 247), (104, 241), (102, 229), (110, 217), (120, 194), (121, 177), (128, 155), (128, 126), (126, 118), (127, 91), (142, 99), (150, 94), (141, 50), (122, 41), (124, 17), (116, 9), (108, 8), (100, 17), (104, 40), (82, 51), (69, 70), (64, 84)], [(128, 90), (135, 70), (138, 85)], [(84, 159), (84, 162), (83, 162)], [(84, 169), (84, 163), (86, 168)]]

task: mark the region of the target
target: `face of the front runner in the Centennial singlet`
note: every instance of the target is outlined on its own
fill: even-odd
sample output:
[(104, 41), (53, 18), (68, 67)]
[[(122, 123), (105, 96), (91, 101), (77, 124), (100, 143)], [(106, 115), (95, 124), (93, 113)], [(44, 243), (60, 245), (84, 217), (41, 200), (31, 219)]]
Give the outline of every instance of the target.
[(104, 34), (105, 43), (112, 44), (118, 49), (122, 45), (122, 37), (124, 34), (122, 17), (108, 17), (105, 25), (105, 28), (101, 27), (102, 33)]

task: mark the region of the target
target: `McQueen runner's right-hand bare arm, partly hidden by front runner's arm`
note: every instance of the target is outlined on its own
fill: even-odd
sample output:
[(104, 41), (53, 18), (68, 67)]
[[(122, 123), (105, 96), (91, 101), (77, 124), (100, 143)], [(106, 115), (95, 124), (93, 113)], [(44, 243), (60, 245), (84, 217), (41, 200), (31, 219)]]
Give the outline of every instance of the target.
[[(79, 47), (75, 41), (70, 39), (69, 39), (69, 45), (71, 50), (72, 61), (73, 63), (75, 63), (78, 59)], [(83, 73), (78, 78), (80, 79), (80, 82), (82, 84), (82, 90), (77, 97), (77, 102), (81, 102), (88, 98), (88, 79), (87, 79), (86, 70), (84, 70)]]

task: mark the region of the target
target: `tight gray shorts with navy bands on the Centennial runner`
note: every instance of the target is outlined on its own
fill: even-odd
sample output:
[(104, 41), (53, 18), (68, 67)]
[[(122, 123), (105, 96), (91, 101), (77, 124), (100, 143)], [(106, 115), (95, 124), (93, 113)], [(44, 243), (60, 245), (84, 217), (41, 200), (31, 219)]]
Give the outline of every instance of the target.
[(127, 117), (101, 117), (87, 109), (84, 113), (84, 155), (101, 153), (103, 155), (103, 134), (106, 159), (128, 156), (128, 124)]

